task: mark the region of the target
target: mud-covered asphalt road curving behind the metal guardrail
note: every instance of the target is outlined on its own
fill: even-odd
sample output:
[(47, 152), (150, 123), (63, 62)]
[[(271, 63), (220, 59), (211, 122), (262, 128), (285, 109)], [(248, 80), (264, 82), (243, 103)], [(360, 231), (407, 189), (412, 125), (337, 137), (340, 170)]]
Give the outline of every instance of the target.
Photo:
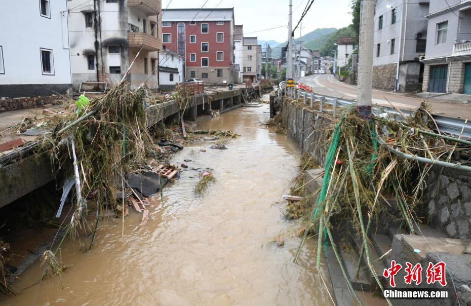
[[(299, 82), (310, 86), (312, 91), (317, 94), (348, 100), (357, 99), (357, 86), (339, 82), (334, 79), (332, 74), (312, 74), (301, 78)], [(417, 109), (420, 103), (424, 101), (424, 98), (412, 94), (373, 90), (373, 104), (390, 107), (391, 105), (386, 99), (397, 107), (407, 110)], [(471, 105), (438, 99), (428, 99), (428, 103), (433, 109), (433, 113), (454, 118), (471, 119)]]

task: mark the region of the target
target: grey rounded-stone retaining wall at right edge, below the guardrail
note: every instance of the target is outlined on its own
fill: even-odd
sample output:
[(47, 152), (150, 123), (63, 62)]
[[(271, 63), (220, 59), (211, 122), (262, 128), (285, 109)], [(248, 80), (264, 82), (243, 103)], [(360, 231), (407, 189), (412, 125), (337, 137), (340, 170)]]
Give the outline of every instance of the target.
[(471, 174), (444, 168), (439, 177), (440, 169), (434, 167), (430, 170), (424, 193), (430, 225), (443, 230), (450, 238), (469, 239)]

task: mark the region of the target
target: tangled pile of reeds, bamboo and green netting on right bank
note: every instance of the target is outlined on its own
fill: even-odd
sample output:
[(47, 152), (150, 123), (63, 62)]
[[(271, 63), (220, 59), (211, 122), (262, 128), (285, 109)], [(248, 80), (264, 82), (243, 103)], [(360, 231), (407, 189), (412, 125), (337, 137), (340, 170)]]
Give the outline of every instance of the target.
[[(425, 104), (412, 117), (404, 116), (403, 122), (383, 117), (363, 119), (355, 108), (348, 108), (333, 127), (322, 188), (306, 216), (295, 261), (310, 227), (319, 234), (318, 269), (325, 237), (344, 270), (337, 252), (338, 242), (331, 233), (333, 228), (341, 235), (353, 235), (363, 241), (359, 257), (366, 254), (370, 270), (373, 265), (368, 233), (378, 222), (399, 221), (408, 233), (415, 234), (418, 223), (426, 221), (420, 215), (420, 207), (424, 179), (430, 168), (434, 164), (466, 167), (452, 163), (453, 152), (466, 155), (471, 152), (471, 142), (447, 137), (440, 131), (434, 133), (433, 128), (436, 125)], [(397, 206), (386, 200), (391, 196)], [(377, 273), (371, 272), (383, 289)], [(351, 284), (348, 285), (359, 301)]]

